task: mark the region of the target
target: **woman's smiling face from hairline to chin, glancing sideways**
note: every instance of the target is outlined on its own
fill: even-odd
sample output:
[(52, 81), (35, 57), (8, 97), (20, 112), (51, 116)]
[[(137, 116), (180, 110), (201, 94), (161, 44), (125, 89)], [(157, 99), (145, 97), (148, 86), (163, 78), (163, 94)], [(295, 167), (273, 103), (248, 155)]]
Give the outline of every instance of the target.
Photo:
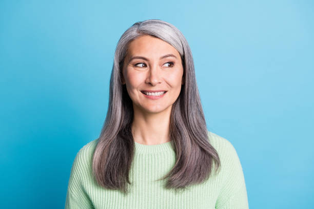
[[(170, 112), (184, 83), (179, 52), (166, 41), (150, 35), (129, 43), (122, 74), (134, 111), (146, 113)], [(151, 91), (158, 93), (146, 95)]]

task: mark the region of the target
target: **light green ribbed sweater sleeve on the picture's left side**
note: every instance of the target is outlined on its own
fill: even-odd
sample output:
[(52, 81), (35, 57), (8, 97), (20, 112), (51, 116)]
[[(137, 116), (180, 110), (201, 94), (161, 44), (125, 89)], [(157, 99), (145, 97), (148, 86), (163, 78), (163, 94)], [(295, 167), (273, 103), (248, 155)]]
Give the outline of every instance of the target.
[(86, 176), (84, 175), (86, 166), (84, 166), (85, 160), (81, 151), (82, 150), (76, 154), (72, 164), (65, 201), (65, 209), (94, 208), (82, 184), (84, 180), (86, 181), (84, 178), (84, 176)]

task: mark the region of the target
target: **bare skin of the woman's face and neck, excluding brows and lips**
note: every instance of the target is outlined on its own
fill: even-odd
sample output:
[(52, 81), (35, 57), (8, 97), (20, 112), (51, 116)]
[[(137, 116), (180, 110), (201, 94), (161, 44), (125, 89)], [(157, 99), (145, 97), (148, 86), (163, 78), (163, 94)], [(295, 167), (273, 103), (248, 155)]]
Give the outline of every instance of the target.
[[(175, 57), (160, 57), (173, 54)], [(146, 57), (132, 59), (134, 56)], [(171, 63), (173, 62), (173, 63)], [(132, 134), (135, 142), (152, 145), (170, 141), (171, 108), (184, 84), (179, 52), (159, 38), (144, 35), (132, 40), (122, 70), (122, 84), (133, 102)], [(149, 99), (143, 90), (165, 90), (160, 99)]]

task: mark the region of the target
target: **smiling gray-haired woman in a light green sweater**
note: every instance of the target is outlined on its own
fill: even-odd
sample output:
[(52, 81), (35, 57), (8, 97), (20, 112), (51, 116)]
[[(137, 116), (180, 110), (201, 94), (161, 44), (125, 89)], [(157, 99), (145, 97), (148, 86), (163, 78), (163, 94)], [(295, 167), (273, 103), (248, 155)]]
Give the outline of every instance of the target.
[(66, 208), (248, 208), (237, 152), (207, 131), (173, 25), (149, 19), (120, 38), (106, 120), (74, 159)]

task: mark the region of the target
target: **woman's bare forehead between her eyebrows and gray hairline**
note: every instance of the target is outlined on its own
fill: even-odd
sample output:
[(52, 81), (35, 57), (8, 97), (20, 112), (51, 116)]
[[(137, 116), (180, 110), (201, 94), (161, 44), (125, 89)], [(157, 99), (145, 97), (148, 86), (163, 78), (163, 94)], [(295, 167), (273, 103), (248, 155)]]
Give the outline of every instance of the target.
[(151, 35), (143, 35), (132, 40), (128, 44), (127, 49), (128, 56), (145, 56), (145, 54), (160, 56), (165, 53), (173, 53), (176, 56), (180, 56), (179, 52), (166, 41)]

